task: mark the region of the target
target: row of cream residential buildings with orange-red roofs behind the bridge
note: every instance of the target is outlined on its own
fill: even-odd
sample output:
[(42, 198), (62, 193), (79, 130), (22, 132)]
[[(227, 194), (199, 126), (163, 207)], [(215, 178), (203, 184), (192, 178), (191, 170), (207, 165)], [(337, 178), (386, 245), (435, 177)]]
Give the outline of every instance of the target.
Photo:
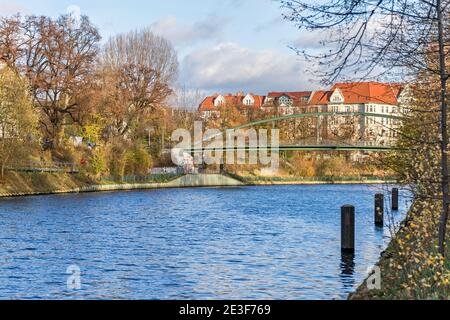
[[(199, 111), (204, 118), (220, 117), (220, 108), (234, 105), (249, 110), (261, 109), (279, 115), (296, 113), (336, 113), (324, 116), (310, 124), (310, 129), (320, 127), (323, 139), (364, 141), (369, 145), (390, 145), (397, 138), (399, 121), (367, 114), (398, 116), (405, 110), (400, 107), (404, 98), (402, 85), (381, 82), (337, 83), (330, 90), (269, 92), (267, 96), (244, 94), (215, 94), (206, 97)], [(343, 117), (356, 113), (358, 116)], [(295, 128), (295, 126), (293, 127)], [(296, 130), (296, 129), (293, 129)]]

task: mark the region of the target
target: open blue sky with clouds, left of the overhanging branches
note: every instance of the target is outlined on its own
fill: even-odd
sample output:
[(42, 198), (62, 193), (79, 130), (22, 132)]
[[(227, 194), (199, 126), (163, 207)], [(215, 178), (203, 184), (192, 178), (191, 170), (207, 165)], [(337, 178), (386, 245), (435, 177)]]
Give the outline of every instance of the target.
[(178, 52), (178, 86), (205, 93), (303, 91), (319, 87), (289, 48), (315, 48), (323, 35), (299, 31), (272, 0), (0, 0), (0, 15), (90, 17), (106, 41), (149, 27)]

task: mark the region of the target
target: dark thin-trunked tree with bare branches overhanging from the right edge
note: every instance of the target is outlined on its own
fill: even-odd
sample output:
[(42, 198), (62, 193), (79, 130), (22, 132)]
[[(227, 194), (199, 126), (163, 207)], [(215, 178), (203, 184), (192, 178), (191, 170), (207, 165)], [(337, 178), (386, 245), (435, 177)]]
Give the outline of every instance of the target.
[[(327, 82), (358, 74), (411, 81), (418, 74), (435, 78), (427, 110), (439, 116), (440, 189), (439, 251), (445, 254), (449, 215), (448, 79), (450, 49), (449, 0), (281, 0), (286, 18), (301, 30), (326, 35), (326, 51), (299, 54), (316, 59)], [(430, 63), (432, 57), (434, 63)]]

